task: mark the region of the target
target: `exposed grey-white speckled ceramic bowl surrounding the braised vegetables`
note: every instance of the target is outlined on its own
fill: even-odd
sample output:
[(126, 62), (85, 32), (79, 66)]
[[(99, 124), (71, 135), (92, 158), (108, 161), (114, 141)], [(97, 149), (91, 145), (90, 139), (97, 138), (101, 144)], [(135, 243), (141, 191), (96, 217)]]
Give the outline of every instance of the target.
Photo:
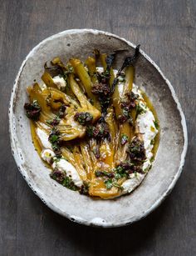
[[(19, 171), (33, 192), (49, 208), (77, 223), (101, 227), (117, 227), (144, 218), (159, 206), (179, 178), (187, 150), (187, 128), (184, 113), (174, 88), (154, 62), (141, 50), (136, 64), (135, 83), (145, 90), (159, 117), (160, 142), (153, 167), (143, 183), (133, 193), (112, 200), (88, 198), (62, 187), (49, 177), (32, 144), (30, 124), (23, 105), (26, 88), (37, 82), (47, 60), (56, 56), (85, 59), (94, 48), (120, 54), (115, 68), (125, 56), (134, 53), (135, 45), (114, 34), (91, 29), (74, 29), (57, 33), (39, 43), (27, 55), (15, 80), (9, 107), (12, 154)], [(141, 47), (142, 48), (142, 47)]]

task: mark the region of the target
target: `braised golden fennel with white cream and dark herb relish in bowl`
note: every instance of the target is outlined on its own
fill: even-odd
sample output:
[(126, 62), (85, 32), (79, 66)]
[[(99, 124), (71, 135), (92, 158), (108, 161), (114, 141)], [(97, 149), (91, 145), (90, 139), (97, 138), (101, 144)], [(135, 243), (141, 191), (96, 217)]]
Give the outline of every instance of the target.
[(32, 141), (50, 176), (66, 188), (110, 199), (133, 191), (159, 146), (159, 121), (135, 83), (140, 46), (113, 69), (120, 52), (95, 50), (84, 63), (45, 63), (24, 104)]

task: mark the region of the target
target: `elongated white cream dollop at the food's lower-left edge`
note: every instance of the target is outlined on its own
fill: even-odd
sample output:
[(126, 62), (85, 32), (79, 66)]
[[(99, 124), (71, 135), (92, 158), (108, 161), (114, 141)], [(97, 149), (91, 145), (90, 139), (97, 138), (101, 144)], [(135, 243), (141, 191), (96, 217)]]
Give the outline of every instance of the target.
[(52, 163), (52, 168), (57, 168), (62, 172), (66, 172), (66, 175), (71, 176), (71, 179), (76, 184), (76, 186), (81, 187), (83, 184), (79, 174), (76, 171), (76, 168), (74, 168), (71, 163), (66, 161), (66, 159), (61, 158), (55, 161)]

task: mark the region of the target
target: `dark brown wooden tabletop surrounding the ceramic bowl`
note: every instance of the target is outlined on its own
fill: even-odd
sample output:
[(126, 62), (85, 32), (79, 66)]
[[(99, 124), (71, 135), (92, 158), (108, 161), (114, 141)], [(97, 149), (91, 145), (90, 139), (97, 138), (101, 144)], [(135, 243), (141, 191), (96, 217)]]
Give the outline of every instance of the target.
[[(195, 17), (195, 0), (0, 1), (0, 255), (196, 255)], [(140, 43), (184, 109), (184, 172), (154, 213), (125, 228), (85, 227), (53, 213), (11, 155), (7, 107), (18, 68), (43, 38), (69, 28), (97, 28)]]

